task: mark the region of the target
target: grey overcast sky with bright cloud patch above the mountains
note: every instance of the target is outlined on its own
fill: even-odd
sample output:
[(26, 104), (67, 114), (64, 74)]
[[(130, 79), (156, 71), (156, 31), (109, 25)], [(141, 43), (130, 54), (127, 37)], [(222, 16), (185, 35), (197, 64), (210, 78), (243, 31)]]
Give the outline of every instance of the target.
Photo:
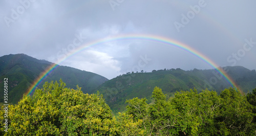
[[(0, 56), (24, 53), (57, 63), (93, 41), (150, 34), (182, 42), (219, 66), (253, 70), (255, 5), (234, 0), (0, 1)], [(102, 42), (59, 64), (108, 79), (136, 70), (212, 69), (191, 53), (142, 39)]]

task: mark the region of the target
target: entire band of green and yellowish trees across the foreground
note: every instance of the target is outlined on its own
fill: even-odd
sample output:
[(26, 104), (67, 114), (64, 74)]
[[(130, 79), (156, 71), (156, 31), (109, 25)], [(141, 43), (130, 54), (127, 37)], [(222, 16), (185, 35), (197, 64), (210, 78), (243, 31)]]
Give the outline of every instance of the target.
[[(247, 96), (234, 88), (197, 89), (166, 98), (155, 87), (152, 102), (126, 100), (126, 111), (115, 118), (103, 96), (83, 94), (61, 80), (46, 82), (33, 96), (8, 107), (8, 132), (4, 110), (1, 135), (255, 135), (256, 88)], [(3, 109), (3, 107), (2, 107)]]

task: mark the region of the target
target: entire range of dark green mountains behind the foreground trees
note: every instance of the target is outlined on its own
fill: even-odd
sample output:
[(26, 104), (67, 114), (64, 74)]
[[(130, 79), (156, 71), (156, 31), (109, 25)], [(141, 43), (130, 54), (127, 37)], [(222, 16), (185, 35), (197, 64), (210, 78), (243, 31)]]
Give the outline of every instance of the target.
[[(0, 57), (0, 88), (4, 88), (4, 78), (8, 78), (8, 102), (17, 103), (28, 90), (31, 83), (52, 65), (52, 62), (38, 60), (25, 54), (10, 54)], [(246, 94), (256, 87), (256, 72), (243, 66), (226, 66), (227, 74), (239, 85)], [(155, 86), (162, 88), (167, 98), (175, 92), (196, 88), (200, 93), (202, 89), (216, 90), (220, 93), (231, 85), (216, 70), (190, 70), (164, 69), (153, 70), (151, 73), (127, 73), (108, 80), (100, 75), (81, 71), (68, 66), (60, 66), (52, 71), (39, 85), (44, 82), (62, 79), (67, 87), (82, 87), (83, 93), (103, 94), (106, 103), (114, 113), (125, 109), (125, 101), (146, 98), (151, 103), (152, 92)], [(215, 78), (217, 80), (211, 80)], [(0, 102), (4, 96), (0, 94)]]

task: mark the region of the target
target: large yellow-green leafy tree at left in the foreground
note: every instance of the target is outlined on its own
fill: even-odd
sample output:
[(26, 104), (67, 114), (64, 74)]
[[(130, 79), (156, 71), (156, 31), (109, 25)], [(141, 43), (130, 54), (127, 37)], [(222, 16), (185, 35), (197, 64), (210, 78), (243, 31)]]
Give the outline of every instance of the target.
[(61, 80), (46, 82), (33, 96), (9, 108), (6, 135), (111, 135), (118, 127), (111, 109), (99, 94), (83, 94)]

